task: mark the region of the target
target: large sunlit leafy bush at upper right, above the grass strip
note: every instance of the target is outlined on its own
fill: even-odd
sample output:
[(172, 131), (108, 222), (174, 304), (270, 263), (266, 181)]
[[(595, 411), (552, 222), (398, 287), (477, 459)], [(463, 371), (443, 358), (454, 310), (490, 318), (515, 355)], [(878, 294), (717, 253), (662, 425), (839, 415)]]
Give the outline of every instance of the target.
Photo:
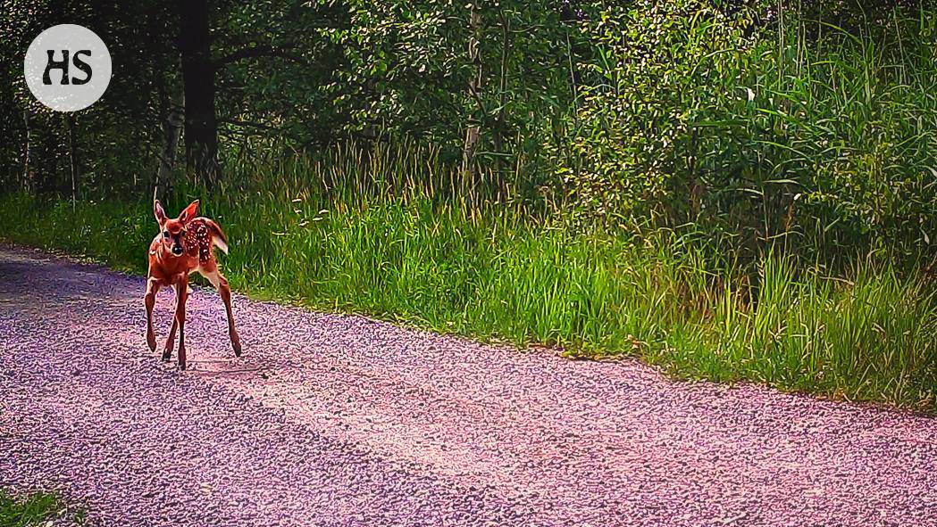
[(850, 33), (721, 4), (602, 4), (583, 22), (596, 81), (556, 151), (580, 216), (692, 222), (759, 252), (932, 251), (937, 16), (896, 9)]

